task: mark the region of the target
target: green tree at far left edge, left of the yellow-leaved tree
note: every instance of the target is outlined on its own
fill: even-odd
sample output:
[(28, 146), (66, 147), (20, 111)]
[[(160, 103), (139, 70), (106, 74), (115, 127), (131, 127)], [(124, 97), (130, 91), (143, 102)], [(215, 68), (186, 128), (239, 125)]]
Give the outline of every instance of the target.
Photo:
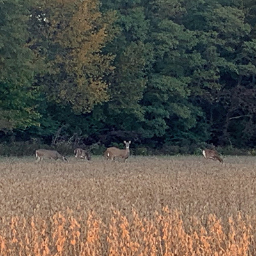
[(42, 63), (26, 44), (31, 1), (0, 1), (0, 130), (38, 124), (34, 76)]

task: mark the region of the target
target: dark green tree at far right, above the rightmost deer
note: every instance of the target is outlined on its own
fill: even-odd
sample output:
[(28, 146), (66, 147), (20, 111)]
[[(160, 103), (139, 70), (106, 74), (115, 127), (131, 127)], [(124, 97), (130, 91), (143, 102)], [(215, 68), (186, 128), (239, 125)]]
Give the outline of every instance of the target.
[(246, 7), (226, 4), (193, 3), (192, 8), (188, 3), (183, 22), (198, 37), (195, 49), (203, 65), (191, 77), (193, 104), (199, 103), (205, 112), (212, 134), (209, 140), (241, 146), (255, 129), (255, 41), (246, 22)]

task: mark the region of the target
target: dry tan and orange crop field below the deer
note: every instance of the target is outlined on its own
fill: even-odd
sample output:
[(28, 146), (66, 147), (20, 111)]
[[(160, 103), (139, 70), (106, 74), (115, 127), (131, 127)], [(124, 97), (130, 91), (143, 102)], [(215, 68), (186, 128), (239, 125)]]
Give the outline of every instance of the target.
[(256, 157), (0, 158), (2, 255), (256, 255)]

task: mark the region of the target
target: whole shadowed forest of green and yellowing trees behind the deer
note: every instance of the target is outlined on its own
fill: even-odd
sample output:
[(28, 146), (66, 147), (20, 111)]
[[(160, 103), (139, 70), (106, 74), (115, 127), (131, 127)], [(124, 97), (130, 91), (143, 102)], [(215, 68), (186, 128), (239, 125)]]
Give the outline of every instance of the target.
[(254, 152), (255, 56), (253, 0), (2, 0), (0, 154)]

